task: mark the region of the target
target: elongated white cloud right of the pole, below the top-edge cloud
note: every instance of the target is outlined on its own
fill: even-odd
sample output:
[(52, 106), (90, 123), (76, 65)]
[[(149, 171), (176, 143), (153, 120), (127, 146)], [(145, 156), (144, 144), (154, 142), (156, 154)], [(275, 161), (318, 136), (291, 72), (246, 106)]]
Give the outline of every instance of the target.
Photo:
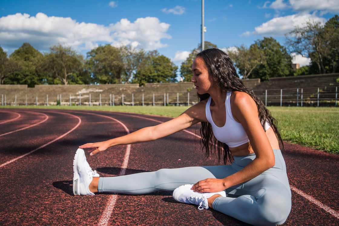
[(261, 36), (284, 36), (284, 34), (293, 30), (296, 26), (302, 27), (306, 21), (319, 21), (324, 23), (326, 20), (315, 16), (314, 14), (299, 13), (285, 17), (273, 18), (258, 27), (255, 31), (246, 31), (241, 36), (261, 35)]

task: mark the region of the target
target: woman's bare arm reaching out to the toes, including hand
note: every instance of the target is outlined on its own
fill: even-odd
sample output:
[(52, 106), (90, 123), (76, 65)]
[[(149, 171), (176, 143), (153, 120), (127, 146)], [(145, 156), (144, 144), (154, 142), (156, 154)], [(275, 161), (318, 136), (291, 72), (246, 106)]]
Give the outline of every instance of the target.
[(87, 143), (79, 146), (79, 148), (91, 148), (89, 152), (91, 152), (91, 155), (94, 155), (95, 153), (106, 150), (111, 146), (136, 144), (146, 141), (154, 141), (159, 138), (166, 137), (204, 120), (206, 118), (204, 106), (204, 102), (199, 102), (198, 104), (188, 108), (177, 118), (167, 122), (156, 126), (145, 127), (125, 136), (117, 137), (111, 140)]

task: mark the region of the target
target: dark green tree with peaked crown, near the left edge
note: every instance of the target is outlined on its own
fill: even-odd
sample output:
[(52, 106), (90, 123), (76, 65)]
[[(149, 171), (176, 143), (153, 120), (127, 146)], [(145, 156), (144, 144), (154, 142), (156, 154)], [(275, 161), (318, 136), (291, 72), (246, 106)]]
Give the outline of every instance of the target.
[(43, 74), (39, 73), (43, 55), (29, 43), (23, 43), (16, 49), (11, 58), (20, 63), (21, 70), (11, 74), (4, 81), (6, 84), (27, 84), (28, 87), (34, 87), (36, 84), (42, 84)]

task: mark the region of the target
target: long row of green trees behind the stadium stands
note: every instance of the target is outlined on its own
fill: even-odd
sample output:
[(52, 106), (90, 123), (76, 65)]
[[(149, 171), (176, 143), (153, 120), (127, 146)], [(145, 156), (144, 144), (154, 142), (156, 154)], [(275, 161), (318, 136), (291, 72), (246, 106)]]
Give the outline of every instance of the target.
[[(286, 47), (272, 37), (229, 48), (226, 52), (243, 79), (325, 74), (339, 72), (339, 17), (324, 25), (307, 21), (286, 34)], [(205, 48), (218, 46), (205, 41)], [(181, 63), (180, 74), (191, 81), (192, 63), (201, 45)], [(311, 59), (311, 64), (292, 69), (291, 53)], [(145, 51), (131, 46), (98, 46), (86, 55), (60, 44), (42, 54), (29, 43), (23, 43), (11, 55), (0, 46), (0, 85), (27, 84), (113, 84), (177, 82), (178, 67), (157, 50)]]

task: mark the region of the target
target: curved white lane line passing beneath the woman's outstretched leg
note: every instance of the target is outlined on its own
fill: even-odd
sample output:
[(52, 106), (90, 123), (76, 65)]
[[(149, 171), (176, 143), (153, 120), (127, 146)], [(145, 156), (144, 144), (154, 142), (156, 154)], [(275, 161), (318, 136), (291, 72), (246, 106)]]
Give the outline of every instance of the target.
[[(95, 114), (95, 113), (90, 113), (90, 112), (83, 112), (83, 113), (86, 113), (86, 114), (91, 114), (91, 115), (99, 115), (99, 114)], [(129, 129), (127, 128), (127, 126), (125, 124), (123, 124), (121, 121), (115, 119), (115, 118), (112, 118), (112, 117), (109, 117), (109, 116), (105, 116), (105, 115), (99, 115), (99, 116), (102, 116), (102, 117), (105, 117), (105, 118), (108, 118), (108, 119), (112, 119), (116, 122), (118, 122), (120, 125), (122, 125), (124, 127), (124, 129), (126, 130), (127, 134), (129, 134)], [(127, 168), (127, 164), (128, 164), (128, 159), (129, 159), (129, 153), (131, 152), (131, 144), (128, 144), (127, 147), (126, 147), (126, 152), (125, 152), (125, 156), (124, 156), (124, 161), (121, 165), (121, 170), (119, 172), (119, 175), (118, 176), (123, 176), (126, 172), (126, 168)], [(115, 203), (118, 199), (118, 196), (116, 194), (113, 194), (107, 201), (107, 204), (106, 204), (106, 207), (105, 207), (105, 210), (103, 211), (102, 215), (101, 215), (101, 218), (99, 220), (99, 223), (98, 225), (100, 226), (106, 226), (108, 224), (108, 221), (109, 219), (111, 218), (111, 214), (112, 214), (112, 211), (114, 209), (114, 206), (115, 206)]]

